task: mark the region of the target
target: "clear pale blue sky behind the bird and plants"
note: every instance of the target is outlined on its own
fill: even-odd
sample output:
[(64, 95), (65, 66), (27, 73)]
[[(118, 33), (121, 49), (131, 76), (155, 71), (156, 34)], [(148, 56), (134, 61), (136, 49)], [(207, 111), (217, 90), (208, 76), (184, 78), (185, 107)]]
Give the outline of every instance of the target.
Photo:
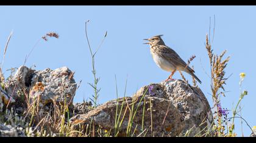
[[(242, 115), (249, 125), (256, 125), (255, 79), (256, 68), (256, 7), (254, 6), (1, 6), (0, 7), (0, 54), (13, 30), (9, 48), (4, 60), (3, 71), (20, 67), (24, 58), (41, 36), (48, 32), (59, 33), (59, 39), (40, 41), (30, 55), (26, 65), (44, 68), (69, 67), (76, 71), (76, 82), (82, 80), (74, 102), (82, 102), (91, 97), (93, 90), (88, 82), (93, 82), (91, 59), (85, 41), (85, 21), (91, 47), (98, 48), (105, 31), (108, 32), (104, 44), (96, 55), (96, 70), (101, 92), (99, 102), (116, 98), (115, 75), (119, 96), (123, 96), (127, 79), (126, 96), (131, 96), (138, 88), (150, 83), (158, 83), (169, 76), (155, 65), (144, 38), (164, 35), (165, 44), (187, 61), (191, 62), (196, 75), (201, 79), (199, 87), (212, 105), (210, 93), (210, 67), (205, 50), (205, 35), (209, 31), (210, 16), (215, 15), (215, 38), (212, 48), (220, 54), (227, 50), (231, 56), (227, 65), (228, 79), (226, 97), (221, 98), (222, 107), (230, 110), (240, 96), (239, 74), (246, 73), (243, 88), (248, 90), (242, 105)], [(212, 23), (213, 27), (213, 23)], [(2, 58), (1, 58), (2, 59)], [(9, 73), (5, 71), (5, 76)], [(191, 77), (184, 73), (191, 82)], [(180, 79), (177, 72), (173, 78)], [(88, 99), (89, 100), (89, 99)], [(231, 115), (232, 113), (230, 113)], [(241, 136), (240, 120), (236, 119), (236, 133)], [(244, 136), (251, 130), (243, 123)]]

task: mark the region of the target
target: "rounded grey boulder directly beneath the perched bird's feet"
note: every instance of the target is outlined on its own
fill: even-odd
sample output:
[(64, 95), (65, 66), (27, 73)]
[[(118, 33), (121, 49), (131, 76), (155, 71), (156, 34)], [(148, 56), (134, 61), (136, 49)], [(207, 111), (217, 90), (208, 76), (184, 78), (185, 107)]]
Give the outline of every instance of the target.
[[(210, 129), (213, 123), (212, 111), (199, 87), (191, 87), (186, 82), (177, 79), (160, 84), (151, 84), (151, 87), (151, 94), (158, 98), (170, 100), (182, 114), (185, 119), (182, 135), (191, 128), (189, 136), (194, 136), (199, 131), (201, 131), (199, 135), (202, 135)], [(138, 93), (141, 94), (144, 91), (146, 91), (146, 87), (141, 88)]]

